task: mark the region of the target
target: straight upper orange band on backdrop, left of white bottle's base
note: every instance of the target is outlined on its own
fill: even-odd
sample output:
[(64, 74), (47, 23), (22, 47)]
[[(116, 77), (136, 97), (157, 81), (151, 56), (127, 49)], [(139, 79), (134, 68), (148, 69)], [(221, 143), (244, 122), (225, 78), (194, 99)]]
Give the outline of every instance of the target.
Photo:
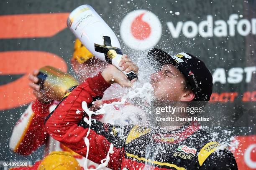
[(67, 27), (69, 13), (0, 16), (0, 38), (51, 37)]

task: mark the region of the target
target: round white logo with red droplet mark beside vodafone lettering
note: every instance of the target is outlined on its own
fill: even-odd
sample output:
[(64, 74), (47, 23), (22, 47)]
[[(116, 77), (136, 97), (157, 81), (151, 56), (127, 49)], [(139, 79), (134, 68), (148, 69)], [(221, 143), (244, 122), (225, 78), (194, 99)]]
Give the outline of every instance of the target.
[(162, 33), (160, 20), (147, 10), (128, 13), (120, 26), (120, 34), (125, 45), (134, 50), (147, 50), (156, 45)]

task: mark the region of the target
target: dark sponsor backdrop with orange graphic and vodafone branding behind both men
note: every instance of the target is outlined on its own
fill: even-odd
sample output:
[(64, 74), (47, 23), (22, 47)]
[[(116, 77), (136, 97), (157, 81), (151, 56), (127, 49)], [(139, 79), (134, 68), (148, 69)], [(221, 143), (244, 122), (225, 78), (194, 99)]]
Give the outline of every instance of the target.
[[(213, 76), (210, 110), (214, 114), (215, 108), (222, 113), (226, 107), (236, 107), (223, 114), (248, 121), (247, 130), (233, 128), (239, 141), (233, 153), (239, 169), (256, 169), (254, 0), (2, 0), (0, 161), (33, 163), (41, 158), (43, 148), (30, 156), (13, 153), (8, 147), (10, 135), (15, 122), (35, 100), (28, 75), (45, 65), (72, 73), (69, 60), (75, 37), (66, 21), (69, 13), (83, 4), (100, 14), (117, 35), (123, 53), (134, 61), (143, 59), (152, 47), (170, 54), (188, 52), (203, 60)], [(250, 107), (246, 110), (245, 105)]]

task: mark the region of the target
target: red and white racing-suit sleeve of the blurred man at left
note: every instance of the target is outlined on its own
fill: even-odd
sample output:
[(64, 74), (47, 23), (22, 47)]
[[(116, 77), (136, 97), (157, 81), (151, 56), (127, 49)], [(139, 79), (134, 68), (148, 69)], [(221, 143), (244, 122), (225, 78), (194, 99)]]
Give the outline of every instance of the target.
[(42, 103), (39, 100), (31, 103), (16, 122), (9, 141), (9, 147), (15, 153), (29, 155), (39, 146), (44, 145), (48, 133), (44, 127), (44, 120), (49, 115), (49, 107), (53, 103)]

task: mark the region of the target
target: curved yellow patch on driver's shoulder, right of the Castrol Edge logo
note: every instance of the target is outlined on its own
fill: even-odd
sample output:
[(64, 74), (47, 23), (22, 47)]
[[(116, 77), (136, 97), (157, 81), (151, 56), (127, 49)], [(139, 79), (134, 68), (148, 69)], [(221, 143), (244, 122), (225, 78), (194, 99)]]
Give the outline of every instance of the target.
[(220, 147), (220, 143), (218, 142), (209, 142), (207, 143), (199, 152), (198, 154), (198, 162), (199, 165), (202, 166), (202, 164), (205, 162), (205, 160), (209, 157), (211, 153), (213, 153), (215, 150), (217, 150)]

